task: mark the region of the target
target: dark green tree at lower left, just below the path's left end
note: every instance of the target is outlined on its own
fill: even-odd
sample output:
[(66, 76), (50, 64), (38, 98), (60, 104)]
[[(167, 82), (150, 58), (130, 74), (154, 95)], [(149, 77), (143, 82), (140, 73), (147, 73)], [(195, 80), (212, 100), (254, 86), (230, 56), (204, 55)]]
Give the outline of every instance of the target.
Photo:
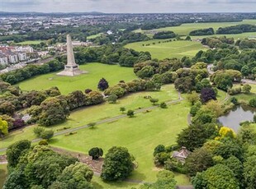
[(13, 143), (7, 148), (7, 161), (10, 167), (16, 167), (21, 154), (30, 149), (31, 141), (22, 140)]

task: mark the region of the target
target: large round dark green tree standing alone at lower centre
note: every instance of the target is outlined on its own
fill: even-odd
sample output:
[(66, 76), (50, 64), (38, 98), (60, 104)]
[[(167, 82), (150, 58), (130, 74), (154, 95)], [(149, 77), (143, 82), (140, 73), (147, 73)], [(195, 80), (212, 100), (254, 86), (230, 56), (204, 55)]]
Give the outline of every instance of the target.
[(102, 165), (102, 179), (105, 181), (126, 179), (134, 169), (132, 160), (126, 148), (113, 146), (105, 156)]

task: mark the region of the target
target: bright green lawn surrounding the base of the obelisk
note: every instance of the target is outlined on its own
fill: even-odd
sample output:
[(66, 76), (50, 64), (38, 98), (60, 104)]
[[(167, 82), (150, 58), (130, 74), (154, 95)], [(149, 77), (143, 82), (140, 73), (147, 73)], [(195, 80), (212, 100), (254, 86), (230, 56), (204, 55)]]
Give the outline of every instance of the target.
[[(102, 63), (88, 63), (80, 66), (88, 74), (80, 76), (57, 76), (56, 73), (49, 73), (32, 77), (29, 80), (17, 84), (21, 90), (43, 90), (51, 86), (58, 86), (62, 94), (68, 94), (73, 90), (92, 89), (97, 90), (98, 81), (104, 77), (109, 85), (116, 85), (119, 81), (131, 81), (136, 78), (133, 68), (107, 65)], [(59, 72), (59, 71), (58, 71)]]

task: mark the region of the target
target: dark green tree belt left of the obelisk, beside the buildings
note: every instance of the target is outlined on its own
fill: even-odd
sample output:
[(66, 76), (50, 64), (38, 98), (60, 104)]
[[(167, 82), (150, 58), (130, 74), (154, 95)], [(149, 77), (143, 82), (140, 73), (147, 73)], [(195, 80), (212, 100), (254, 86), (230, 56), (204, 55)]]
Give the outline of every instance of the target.
[(64, 63), (59, 62), (58, 60), (52, 60), (46, 62), (43, 65), (28, 65), (21, 69), (15, 71), (9, 71), (0, 75), (2, 81), (10, 83), (12, 85), (17, 84), (20, 81), (31, 78), (32, 76), (37, 76), (52, 71), (59, 71), (64, 69)]

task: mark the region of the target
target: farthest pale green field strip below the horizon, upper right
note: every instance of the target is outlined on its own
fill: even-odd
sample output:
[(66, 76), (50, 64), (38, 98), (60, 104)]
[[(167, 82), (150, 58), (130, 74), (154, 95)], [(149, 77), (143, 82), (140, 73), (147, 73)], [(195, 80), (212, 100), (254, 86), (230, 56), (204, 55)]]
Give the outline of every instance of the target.
[[(241, 25), (241, 24), (256, 24), (256, 20), (244, 20), (239, 22), (211, 22), (211, 23), (190, 23), (190, 24), (183, 24), (180, 26), (173, 26), (173, 27), (165, 27), (165, 28), (159, 28), (154, 30), (135, 30), (135, 32), (142, 32), (145, 34), (151, 34), (156, 33), (159, 31), (168, 31), (172, 30), (174, 33), (178, 35), (188, 35), (189, 32), (192, 30), (200, 30), (205, 28), (213, 28), (215, 31), (218, 30), (219, 27), (227, 27), (231, 25)], [(254, 32), (256, 34), (256, 32)]]

